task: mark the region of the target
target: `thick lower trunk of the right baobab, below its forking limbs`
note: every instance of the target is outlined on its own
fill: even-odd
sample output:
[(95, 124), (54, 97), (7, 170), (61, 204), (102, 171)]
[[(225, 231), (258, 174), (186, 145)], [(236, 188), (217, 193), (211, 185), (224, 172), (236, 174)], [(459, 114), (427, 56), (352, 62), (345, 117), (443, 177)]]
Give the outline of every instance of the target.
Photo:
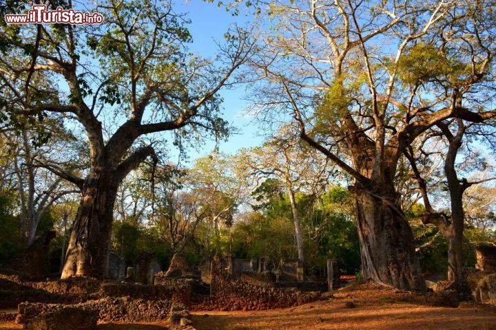
[(399, 289), (423, 291), (413, 234), (395, 199), (357, 190), (357, 222), (364, 278)]

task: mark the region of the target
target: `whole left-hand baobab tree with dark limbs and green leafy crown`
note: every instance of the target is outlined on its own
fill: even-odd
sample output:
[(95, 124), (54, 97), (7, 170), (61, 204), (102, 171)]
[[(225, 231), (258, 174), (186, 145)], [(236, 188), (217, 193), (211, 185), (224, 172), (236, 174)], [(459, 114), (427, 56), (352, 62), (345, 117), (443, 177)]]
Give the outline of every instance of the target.
[[(103, 278), (118, 186), (148, 157), (158, 161), (146, 135), (172, 131), (180, 144), (201, 131), (227, 134), (217, 92), (234, 83), (252, 47), (249, 34), (234, 29), (215, 61), (190, 56), (185, 17), (170, 1), (108, 0), (93, 9), (103, 24), (0, 30), (3, 52), (18, 55), (1, 61), (1, 83), (12, 94), (3, 109), (41, 118), (60, 113), (86, 133), (87, 175), (52, 168), (82, 191), (62, 278)], [(39, 87), (41, 76), (63, 86)]]

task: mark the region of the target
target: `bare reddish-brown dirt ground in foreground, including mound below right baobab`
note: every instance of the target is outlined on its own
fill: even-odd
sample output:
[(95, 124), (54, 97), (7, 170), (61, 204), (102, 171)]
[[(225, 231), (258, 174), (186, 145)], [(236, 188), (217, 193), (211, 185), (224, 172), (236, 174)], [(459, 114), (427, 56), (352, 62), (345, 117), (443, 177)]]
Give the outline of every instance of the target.
[[(347, 305), (353, 303), (354, 307)], [(348, 304), (347, 304), (348, 303)], [(346, 289), (333, 298), (315, 303), (270, 311), (198, 311), (198, 330), (292, 330), (292, 329), (496, 329), (495, 307), (432, 307), (409, 292), (398, 292), (366, 284)], [(22, 329), (21, 325), (0, 322), (0, 329)], [(161, 330), (166, 323), (102, 324), (98, 330)]]

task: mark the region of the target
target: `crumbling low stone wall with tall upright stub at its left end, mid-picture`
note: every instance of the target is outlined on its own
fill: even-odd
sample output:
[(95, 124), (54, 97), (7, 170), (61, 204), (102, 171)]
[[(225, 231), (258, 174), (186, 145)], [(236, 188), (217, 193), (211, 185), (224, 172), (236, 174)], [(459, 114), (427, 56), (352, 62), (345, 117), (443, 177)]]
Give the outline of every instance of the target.
[(211, 263), (210, 298), (191, 310), (263, 310), (302, 305), (320, 298), (319, 292), (259, 287), (227, 274), (218, 256)]

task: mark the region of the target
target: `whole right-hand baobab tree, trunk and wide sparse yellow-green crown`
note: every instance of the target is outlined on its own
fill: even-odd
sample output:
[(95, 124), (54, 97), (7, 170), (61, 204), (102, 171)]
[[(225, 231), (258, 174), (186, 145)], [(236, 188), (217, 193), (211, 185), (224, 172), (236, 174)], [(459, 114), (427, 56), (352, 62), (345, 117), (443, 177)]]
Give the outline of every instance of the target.
[(415, 0), (272, 1), (267, 12), (275, 26), (251, 61), (260, 118), (293, 118), (302, 140), (353, 178), (364, 277), (424, 289), (397, 165), (442, 120), (496, 115), (494, 12)]

